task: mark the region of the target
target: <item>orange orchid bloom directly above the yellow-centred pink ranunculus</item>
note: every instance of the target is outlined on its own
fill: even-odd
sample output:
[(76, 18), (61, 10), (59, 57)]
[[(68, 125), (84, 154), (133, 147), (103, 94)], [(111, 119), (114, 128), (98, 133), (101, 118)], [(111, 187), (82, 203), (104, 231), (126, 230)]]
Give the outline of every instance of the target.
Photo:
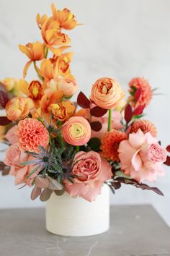
[(73, 116), (76, 107), (71, 101), (62, 101), (61, 103), (51, 104), (50, 111), (53, 113), (54, 119), (66, 121)]

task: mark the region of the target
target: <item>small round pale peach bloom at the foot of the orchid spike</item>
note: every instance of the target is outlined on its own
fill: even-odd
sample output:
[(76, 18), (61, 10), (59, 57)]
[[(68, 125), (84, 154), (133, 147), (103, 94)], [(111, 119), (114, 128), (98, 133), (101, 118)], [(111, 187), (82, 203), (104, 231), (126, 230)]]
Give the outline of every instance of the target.
[(65, 97), (70, 98), (76, 93), (77, 84), (75, 80), (60, 79), (58, 80), (58, 90), (61, 90)]

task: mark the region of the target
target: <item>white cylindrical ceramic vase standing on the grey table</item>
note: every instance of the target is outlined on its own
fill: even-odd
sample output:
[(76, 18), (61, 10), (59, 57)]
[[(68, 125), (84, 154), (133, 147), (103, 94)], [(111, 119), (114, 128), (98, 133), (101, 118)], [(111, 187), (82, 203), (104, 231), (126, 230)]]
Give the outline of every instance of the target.
[(53, 193), (46, 203), (46, 229), (61, 236), (92, 236), (109, 229), (109, 187), (93, 202)]

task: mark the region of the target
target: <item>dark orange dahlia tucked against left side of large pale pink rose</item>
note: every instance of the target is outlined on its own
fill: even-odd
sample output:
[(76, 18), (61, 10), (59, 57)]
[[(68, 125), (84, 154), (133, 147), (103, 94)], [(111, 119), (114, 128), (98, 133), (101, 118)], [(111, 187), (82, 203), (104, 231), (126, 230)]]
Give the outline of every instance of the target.
[(112, 161), (120, 161), (117, 150), (119, 148), (120, 142), (122, 140), (126, 140), (127, 135), (125, 132), (118, 131), (116, 129), (112, 129), (110, 132), (106, 132), (104, 137), (102, 138), (102, 155), (104, 158), (107, 158)]

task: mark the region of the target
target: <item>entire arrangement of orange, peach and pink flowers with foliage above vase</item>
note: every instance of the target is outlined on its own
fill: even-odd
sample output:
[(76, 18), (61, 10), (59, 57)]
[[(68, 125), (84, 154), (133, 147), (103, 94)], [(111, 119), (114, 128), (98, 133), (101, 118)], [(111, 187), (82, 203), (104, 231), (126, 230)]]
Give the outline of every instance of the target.
[[(37, 14), (42, 43), (19, 45), (29, 61), (23, 79), (6, 78), (0, 85), (0, 138), (9, 145), (3, 174), (14, 176), (15, 184), (32, 187), (31, 198), (45, 201), (52, 192), (93, 201), (106, 183), (115, 192), (121, 184), (163, 193), (146, 182), (164, 176), (162, 163), (169, 166), (170, 146), (161, 147), (156, 127), (143, 119), (153, 90), (148, 81), (136, 77), (129, 82), (127, 101), (120, 84), (99, 78), (89, 98), (79, 93), (68, 52), (72, 30), (78, 22), (68, 10), (52, 16)], [(25, 80), (34, 65), (37, 79)]]

